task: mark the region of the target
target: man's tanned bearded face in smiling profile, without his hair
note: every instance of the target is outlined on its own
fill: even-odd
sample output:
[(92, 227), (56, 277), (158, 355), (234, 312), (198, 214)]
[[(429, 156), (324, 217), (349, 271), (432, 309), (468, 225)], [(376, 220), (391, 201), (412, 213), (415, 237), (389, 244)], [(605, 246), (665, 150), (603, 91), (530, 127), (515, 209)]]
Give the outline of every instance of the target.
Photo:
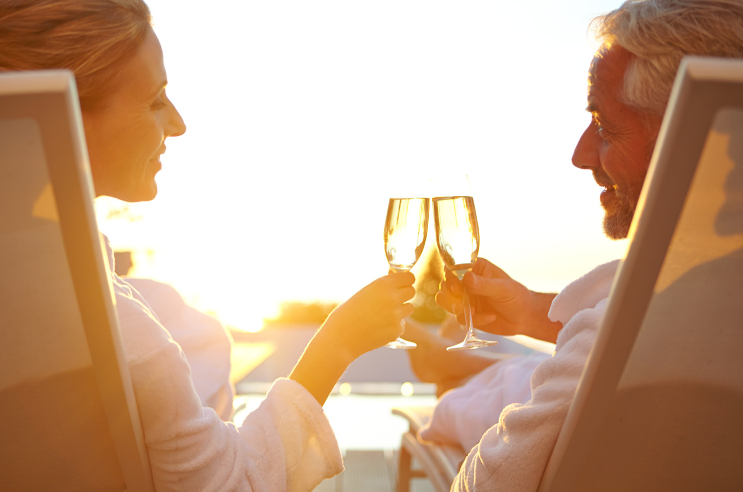
[(597, 51), (588, 72), (591, 124), (573, 152), (573, 164), (591, 169), (601, 192), (603, 228), (611, 239), (623, 239), (635, 214), (650, 164), (658, 124), (621, 102), (624, 72), (632, 54), (614, 45)]

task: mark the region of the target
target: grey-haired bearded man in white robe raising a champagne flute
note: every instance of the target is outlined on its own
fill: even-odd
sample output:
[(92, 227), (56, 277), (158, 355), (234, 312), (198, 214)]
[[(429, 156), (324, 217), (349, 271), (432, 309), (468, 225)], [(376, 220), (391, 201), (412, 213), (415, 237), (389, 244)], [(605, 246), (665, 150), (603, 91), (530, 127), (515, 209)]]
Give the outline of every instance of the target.
[[(743, 58), (743, 0), (629, 0), (594, 20), (602, 47), (588, 75), (591, 123), (573, 164), (603, 191), (603, 227), (625, 238), (663, 111), (687, 54)], [(531, 400), (510, 404), (470, 451), (452, 491), (534, 491), (539, 485), (606, 308), (617, 262), (600, 265), (559, 295), (528, 290), (479, 259), (463, 282), (478, 328), (557, 341), (536, 366)], [(436, 300), (461, 314), (462, 285), (451, 273)]]

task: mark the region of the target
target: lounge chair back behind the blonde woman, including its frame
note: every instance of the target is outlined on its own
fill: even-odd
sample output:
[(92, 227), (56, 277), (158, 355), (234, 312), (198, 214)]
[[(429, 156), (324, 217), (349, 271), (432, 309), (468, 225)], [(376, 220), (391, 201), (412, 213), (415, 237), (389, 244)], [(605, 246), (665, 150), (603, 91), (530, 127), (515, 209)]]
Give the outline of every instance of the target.
[(68, 71), (0, 74), (0, 490), (154, 491)]

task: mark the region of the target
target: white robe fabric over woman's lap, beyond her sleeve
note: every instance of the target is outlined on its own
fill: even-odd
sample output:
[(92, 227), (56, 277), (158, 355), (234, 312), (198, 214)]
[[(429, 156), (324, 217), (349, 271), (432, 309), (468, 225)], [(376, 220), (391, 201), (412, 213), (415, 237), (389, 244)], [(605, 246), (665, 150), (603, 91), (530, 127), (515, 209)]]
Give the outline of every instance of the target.
[(204, 407), (212, 407), (222, 420), (230, 420), (235, 387), (230, 382), (233, 339), (215, 317), (187, 305), (171, 285), (152, 279), (123, 278), (139, 292), (191, 368), (191, 379)]

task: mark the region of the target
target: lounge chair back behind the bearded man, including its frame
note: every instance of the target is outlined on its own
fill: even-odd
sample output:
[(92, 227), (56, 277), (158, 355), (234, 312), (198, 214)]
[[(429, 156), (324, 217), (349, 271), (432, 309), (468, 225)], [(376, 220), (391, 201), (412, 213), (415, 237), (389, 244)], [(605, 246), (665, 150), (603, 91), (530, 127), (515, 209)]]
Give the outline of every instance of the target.
[(743, 61), (682, 62), (539, 491), (743, 490)]

